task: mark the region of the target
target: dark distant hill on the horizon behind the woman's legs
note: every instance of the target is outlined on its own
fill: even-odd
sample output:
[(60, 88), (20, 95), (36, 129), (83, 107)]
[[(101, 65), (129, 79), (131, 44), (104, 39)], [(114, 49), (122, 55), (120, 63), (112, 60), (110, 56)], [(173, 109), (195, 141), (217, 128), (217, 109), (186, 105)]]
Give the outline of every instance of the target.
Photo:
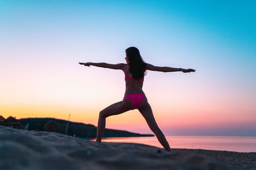
[[(7, 119), (6, 119), (7, 120)], [(28, 131), (45, 131), (45, 124), (49, 122), (54, 122), (58, 124), (58, 129), (55, 132), (65, 134), (67, 127), (67, 120), (60, 120), (56, 118), (21, 118), (17, 119), (17, 122), (20, 122), (24, 127), (26, 124), (29, 124)], [(1, 122), (1, 125), (8, 126), (7, 123)], [(97, 127), (91, 124), (83, 124), (76, 122), (68, 122), (67, 135), (74, 136), (74, 134), (79, 138), (96, 138)], [(103, 138), (106, 137), (137, 137), (137, 136), (154, 136), (153, 134), (139, 134), (128, 131), (120, 131), (115, 129), (105, 129)]]

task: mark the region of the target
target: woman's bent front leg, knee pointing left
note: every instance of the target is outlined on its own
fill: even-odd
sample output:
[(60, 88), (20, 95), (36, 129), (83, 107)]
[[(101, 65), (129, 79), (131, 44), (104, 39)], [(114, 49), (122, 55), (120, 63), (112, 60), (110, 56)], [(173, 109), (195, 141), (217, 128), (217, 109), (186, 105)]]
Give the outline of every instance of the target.
[(118, 115), (120, 113), (124, 113), (125, 111), (129, 111), (132, 109), (131, 103), (129, 101), (120, 101), (118, 103), (111, 104), (104, 110), (100, 111), (98, 126), (97, 126), (97, 142), (101, 141), (103, 133), (106, 127), (106, 118), (112, 115)]

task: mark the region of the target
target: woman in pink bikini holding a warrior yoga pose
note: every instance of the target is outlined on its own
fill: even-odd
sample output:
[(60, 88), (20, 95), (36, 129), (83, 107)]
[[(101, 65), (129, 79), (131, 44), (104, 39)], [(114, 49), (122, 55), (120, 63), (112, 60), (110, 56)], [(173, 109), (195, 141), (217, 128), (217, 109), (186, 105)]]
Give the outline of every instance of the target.
[(159, 129), (156, 120), (154, 118), (152, 109), (148, 104), (147, 97), (145, 96), (142, 86), (144, 81), (145, 71), (162, 71), (162, 72), (173, 72), (182, 71), (183, 73), (195, 72), (195, 69), (182, 69), (173, 67), (157, 67), (152, 64), (147, 64), (141, 59), (140, 52), (138, 48), (131, 46), (125, 50), (126, 57), (125, 60), (127, 64), (107, 64), (104, 62), (79, 62), (84, 66), (96, 66), (104, 67), (109, 69), (120, 69), (124, 71), (125, 74), (125, 95), (124, 99), (118, 103), (111, 104), (104, 110), (100, 111), (99, 121), (97, 127), (97, 139), (96, 141), (100, 143), (103, 132), (106, 126), (106, 118), (112, 115), (118, 115), (124, 113), (125, 111), (138, 109), (141, 115), (147, 121), (148, 126), (151, 131), (156, 134), (158, 141), (163, 145), (164, 149), (170, 152), (170, 146), (166, 140), (163, 132)]

